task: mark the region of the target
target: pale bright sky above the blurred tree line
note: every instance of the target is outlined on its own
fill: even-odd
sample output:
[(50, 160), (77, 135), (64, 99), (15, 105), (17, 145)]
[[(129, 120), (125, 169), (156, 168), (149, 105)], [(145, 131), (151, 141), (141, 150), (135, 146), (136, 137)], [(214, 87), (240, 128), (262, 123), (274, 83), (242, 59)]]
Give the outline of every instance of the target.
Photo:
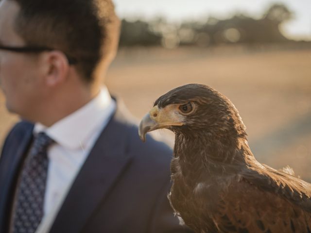
[(273, 3), (284, 3), (294, 19), (283, 25), (284, 34), (293, 39), (311, 40), (311, 0), (114, 0), (119, 17), (165, 17), (172, 22), (230, 17), (245, 13), (260, 17)]

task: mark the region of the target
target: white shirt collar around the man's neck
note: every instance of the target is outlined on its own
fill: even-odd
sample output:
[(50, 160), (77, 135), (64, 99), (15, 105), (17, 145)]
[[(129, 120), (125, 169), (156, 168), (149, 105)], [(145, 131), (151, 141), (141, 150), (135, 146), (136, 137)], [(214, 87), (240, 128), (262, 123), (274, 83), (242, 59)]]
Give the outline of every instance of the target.
[(115, 101), (111, 99), (108, 89), (104, 86), (93, 100), (51, 127), (35, 123), (34, 134), (44, 131), (64, 147), (83, 148), (99, 127), (101, 129), (105, 127), (115, 108)]

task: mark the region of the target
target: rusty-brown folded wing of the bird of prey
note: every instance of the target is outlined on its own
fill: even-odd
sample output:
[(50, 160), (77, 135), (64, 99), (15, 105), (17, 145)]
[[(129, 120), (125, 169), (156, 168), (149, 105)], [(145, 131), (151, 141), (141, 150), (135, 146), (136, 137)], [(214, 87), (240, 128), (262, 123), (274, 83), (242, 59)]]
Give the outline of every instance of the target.
[(239, 179), (219, 196), (212, 219), (220, 232), (311, 233), (311, 213), (292, 201)]

